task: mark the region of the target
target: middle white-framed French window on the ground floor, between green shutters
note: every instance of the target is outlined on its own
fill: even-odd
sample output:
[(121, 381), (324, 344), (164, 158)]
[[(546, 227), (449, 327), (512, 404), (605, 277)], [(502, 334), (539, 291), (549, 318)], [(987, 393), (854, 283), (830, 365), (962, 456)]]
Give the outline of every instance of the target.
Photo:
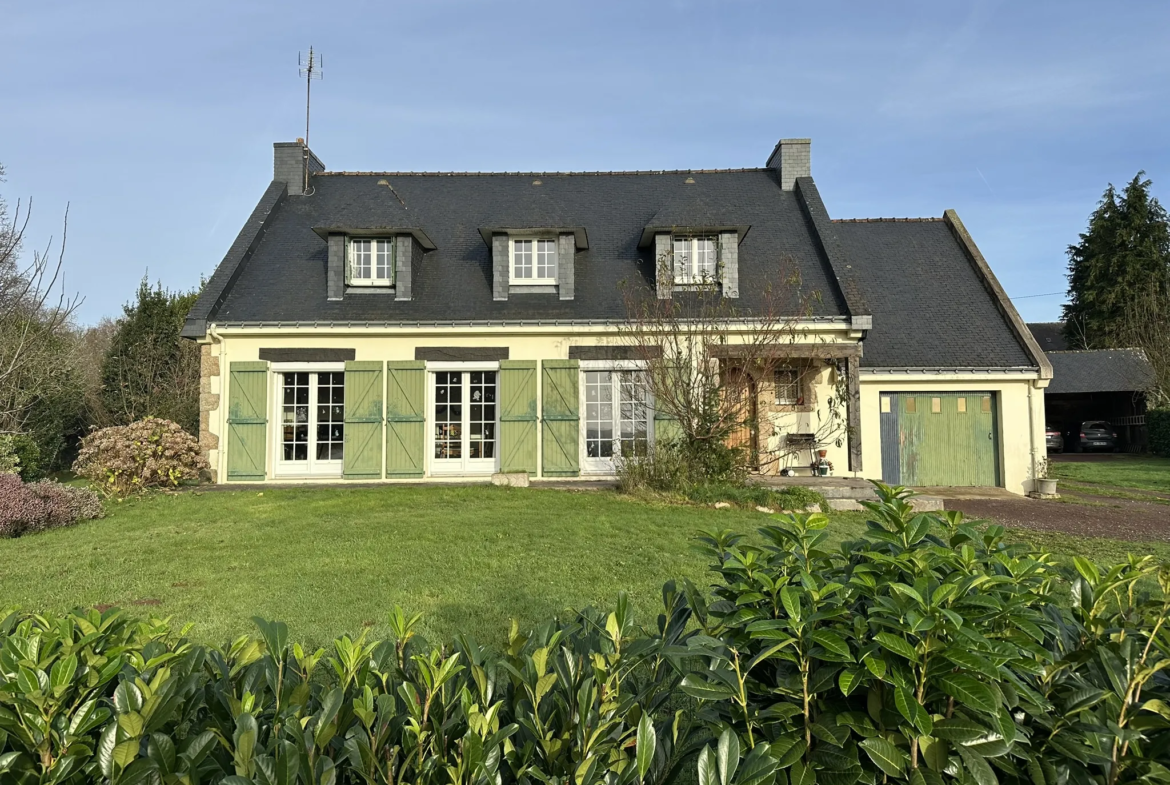
[(431, 374), (432, 474), (496, 470), (496, 371)]

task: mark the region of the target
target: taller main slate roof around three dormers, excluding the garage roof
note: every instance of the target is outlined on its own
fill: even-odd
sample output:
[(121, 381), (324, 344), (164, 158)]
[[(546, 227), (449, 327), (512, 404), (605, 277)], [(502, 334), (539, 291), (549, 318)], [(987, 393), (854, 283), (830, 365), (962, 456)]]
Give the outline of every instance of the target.
[[(708, 204), (735, 205), (737, 223), (751, 227), (739, 245), (738, 307), (758, 305), (765, 285), (777, 287), (790, 273), (786, 266), (794, 263), (804, 287), (820, 292), (815, 316), (847, 315), (797, 195), (782, 191), (771, 170), (317, 174), (311, 183), (312, 195), (287, 197), (270, 216), (264, 237), (242, 264), (214, 321), (619, 319), (625, 316), (622, 282), (653, 284), (654, 250), (638, 247), (642, 228), (665, 206), (680, 204), (690, 193)], [(326, 242), (312, 227), (397, 222), (421, 227), (436, 246), (414, 268), (412, 299), (357, 294), (329, 302)], [(480, 236), (481, 227), (584, 227), (589, 249), (574, 260), (574, 298), (514, 294), (508, 301), (493, 301), (491, 252)]]

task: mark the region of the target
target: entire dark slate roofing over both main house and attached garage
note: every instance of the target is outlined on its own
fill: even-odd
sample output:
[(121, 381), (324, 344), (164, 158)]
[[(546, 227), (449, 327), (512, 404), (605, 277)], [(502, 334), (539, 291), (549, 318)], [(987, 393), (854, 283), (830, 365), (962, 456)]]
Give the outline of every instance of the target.
[[(622, 287), (653, 292), (654, 250), (639, 246), (646, 227), (658, 225), (738, 227), (736, 307), (744, 312), (765, 302), (765, 288), (783, 291), (783, 281), (799, 271), (804, 292), (819, 295), (814, 317), (861, 317), (854, 322), (861, 324), (872, 314), (861, 360), (867, 367), (1038, 365), (947, 222), (831, 221), (812, 178), (783, 191), (771, 168), (322, 172), (311, 177), (310, 195), (287, 195), (274, 181), (184, 335), (201, 337), (209, 322), (620, 321)], [(356, 292), (329, 301), (321, 236), (328, 227), (422, 233), (429, 243), (412, 264), (412, 298)], [(512, 294), (494, 301), (491, 250), (481, 236), (488, 227), (584, 230), (587, 248), (576, 254), (573, 299)], [(796, 307), (797, 297), (791, 299)]]

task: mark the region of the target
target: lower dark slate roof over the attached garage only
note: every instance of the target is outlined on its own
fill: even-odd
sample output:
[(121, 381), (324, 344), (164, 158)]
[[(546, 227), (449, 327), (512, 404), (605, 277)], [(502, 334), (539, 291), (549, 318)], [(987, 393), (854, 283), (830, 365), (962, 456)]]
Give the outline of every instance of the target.
[(874, 318), (862, 366), (1035, 366), (943, 220), (833, 226)]

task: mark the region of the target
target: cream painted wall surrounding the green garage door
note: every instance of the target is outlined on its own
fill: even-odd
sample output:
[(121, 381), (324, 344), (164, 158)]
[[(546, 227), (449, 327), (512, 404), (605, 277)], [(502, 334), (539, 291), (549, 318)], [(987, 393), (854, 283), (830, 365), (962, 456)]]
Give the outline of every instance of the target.
[(881, 401), (883, 392), (993, 392), (999, 405), (999, 467), (1004, 488), (1032, 490), (1045, 460), (1044, 390), (1038, 376), (987, 373), (861, 376), (861, 476), (881, 480)]

